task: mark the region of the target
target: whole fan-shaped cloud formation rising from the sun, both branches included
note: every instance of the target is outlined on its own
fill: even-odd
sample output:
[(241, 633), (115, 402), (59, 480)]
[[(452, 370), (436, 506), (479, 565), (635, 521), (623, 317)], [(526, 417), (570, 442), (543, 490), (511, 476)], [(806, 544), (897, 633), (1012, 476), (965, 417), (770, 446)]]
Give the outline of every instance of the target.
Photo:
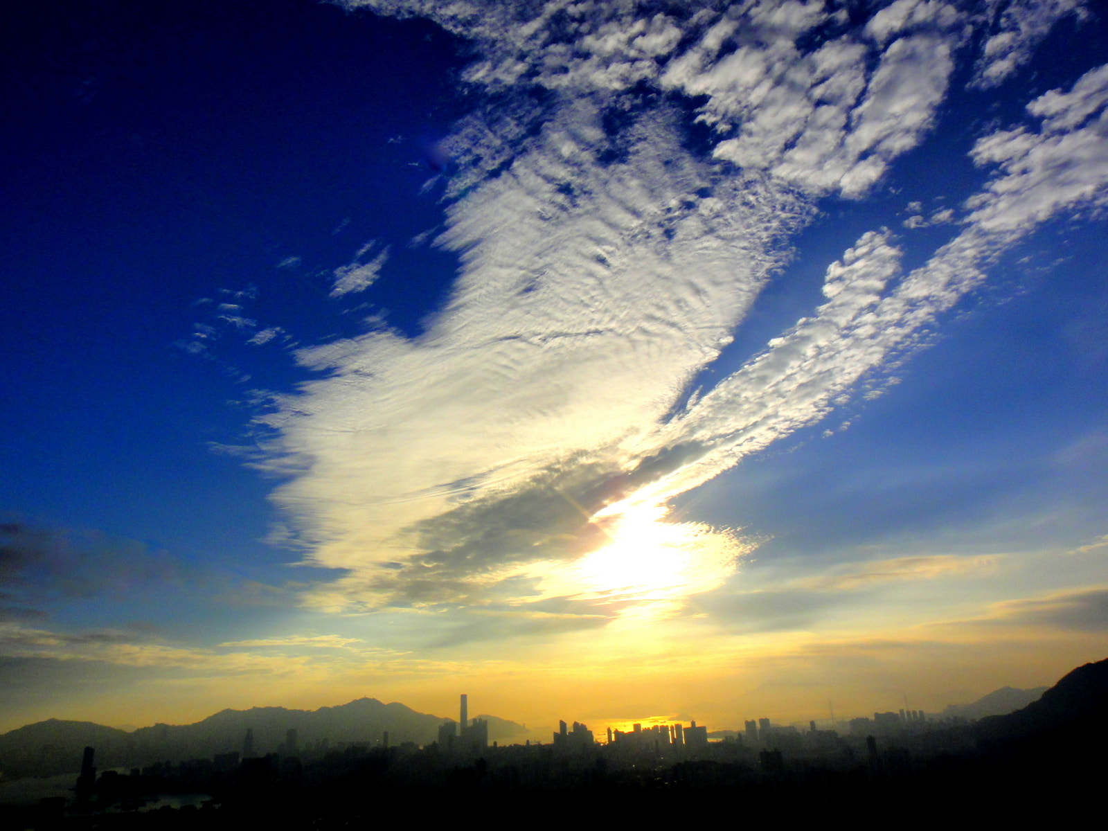
[[(1034, 102), (1038, 126), (977, 143), (992, 173), (925, 265), (863, 234), (810, 317), (689, 397), (815, 201), (862, 197), (923, 140), (981, 20), (934, 0), (861, 24), (819, 2), (346, 4), (469, 39), (465, 81), (497, 99), (443, 143), (449, 301), (418, 337), (299, 350), (322, 377), (261, 417), (275, 500), (311, 562), (347, 570), (314, 595), (328, 608), (550, 602), (538, 566), (608, 544), (597, 512), (819, 420), (999, 253), (1108, 193), (1092, 72)], [(356, 271), (335, 290), (368, 286)]]

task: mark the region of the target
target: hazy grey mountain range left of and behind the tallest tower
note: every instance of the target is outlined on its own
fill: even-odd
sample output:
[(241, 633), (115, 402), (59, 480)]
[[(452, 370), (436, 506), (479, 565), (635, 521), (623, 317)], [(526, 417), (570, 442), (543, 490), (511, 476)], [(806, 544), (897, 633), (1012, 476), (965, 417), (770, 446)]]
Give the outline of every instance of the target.
[[(510, 739), (526, 732), (514, 721), (479, 716), (489, 721), (490, 740)], [(68, 773), (81, 767), (85, 746), (96, 749), (96, 766), (143, 767), (158, 761), (212, 758), (216, 753), (243, 751), (246, 730), (254, 733), (254, 752), (264, 755), (283, 748), (288, 730), (296, 730), (299, 749), (327, 742), (414, 741), (425, 745), (438, 738), (439, 726), (453, 719), (417, 712), (402, 704), (382, 704), (359, 698), (338, 707), (289, 710), (254, 707), (223, 710), (193, 725), (154, 725), (126, 732), (91, 721), (49, 719), (0, 736), (0, 777), (43, 777)]]

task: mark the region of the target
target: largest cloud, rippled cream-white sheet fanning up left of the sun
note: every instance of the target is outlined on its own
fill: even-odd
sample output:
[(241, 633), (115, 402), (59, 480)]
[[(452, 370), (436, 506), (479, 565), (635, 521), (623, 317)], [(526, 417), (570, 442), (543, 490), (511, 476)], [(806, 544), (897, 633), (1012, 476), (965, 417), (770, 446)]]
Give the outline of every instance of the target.
[[(755, 181), (698, 198), (712, 179), (666, 117), (645, 119), (627, 161), (604, 167), (597, 111), (568, 106), (452, 208), (440, 244), (466, 267), (427, 335), (300, 352), (332, 375), (268, 422), (281, 433), (277, 463), (307, 466), (277, 497), (319, 562), (406, 561), (422, 547), (412, 529), (478, 496), (530, 488), (574, 459), (618, 469), (619, 444), (728, 342), (779, 261), (770, 242), (802, 208)], [(516, 531), (505, 561), (547, 551), (532, 543), (552, 530)], [(482, 579), (500, 579), (497, 567)]]

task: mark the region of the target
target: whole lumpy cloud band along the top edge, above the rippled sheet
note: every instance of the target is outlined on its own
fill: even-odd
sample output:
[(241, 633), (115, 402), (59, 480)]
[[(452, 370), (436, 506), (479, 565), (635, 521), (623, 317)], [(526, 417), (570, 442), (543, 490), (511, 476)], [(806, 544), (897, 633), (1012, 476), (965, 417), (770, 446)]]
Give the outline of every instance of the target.
[[(646, 83), (704, 98), (717, 158), (852, 197), (930, 127), (966, 22), (938, 0), (897, 0), (864, 30), (819, 0), (668, 13), (635, 2), (346, 4), (425, 16), (479, 42), (465, 79), (481, 86), (604, 98)], [(819, 27), (834, 37), (802, 45)]]

